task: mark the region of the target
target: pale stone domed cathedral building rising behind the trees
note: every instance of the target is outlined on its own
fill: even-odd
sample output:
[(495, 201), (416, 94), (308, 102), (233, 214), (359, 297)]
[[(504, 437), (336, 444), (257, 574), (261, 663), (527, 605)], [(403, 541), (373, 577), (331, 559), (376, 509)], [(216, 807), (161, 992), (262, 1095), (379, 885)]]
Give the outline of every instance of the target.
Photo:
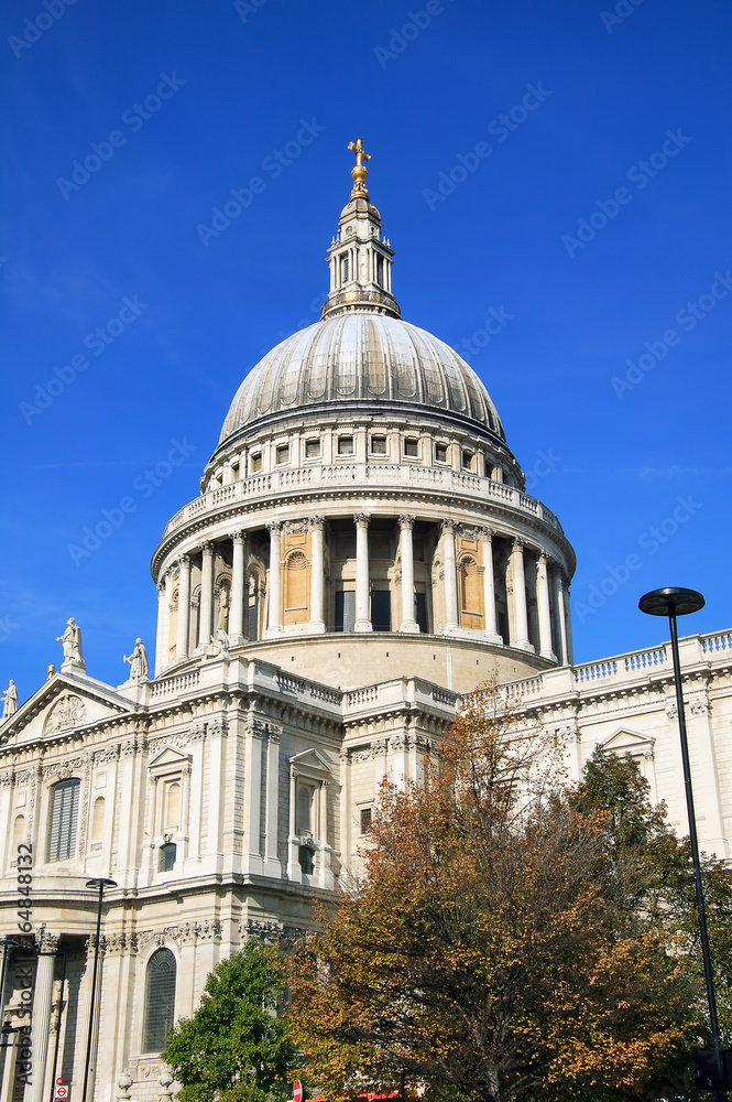
[[(401, 320), (362, 164), (353, 179), (323, 320), (247, 377), (200, 496), (153, 554), (154, 677), (95, 680), (79, 638), (79, 660), (0, 726), (4, 934), (32, 867), (4, 969), (13, 1025), (33, 992), (26, 1102), (54, 1076), (83, 1089), (89, 877), (117, 885), (89, 1098), (167, 1099), (155, 1014), (190, 1015), (252, 933), (312, 923), (313, 897), (358, 865), (382, 779), (418, 782), (488, 678), (562, 733), (573, 776), (597, 744), (637, 757), (685, 829), (667, 648), (572, 665), (572, 549), (524, 493), (478, 377)], [(700, 839), (726, 857), (732, 636), (684, 640), (681, 657)], [(8, 1051), (0, 1102), (18, 1102), (23, 1048)]]

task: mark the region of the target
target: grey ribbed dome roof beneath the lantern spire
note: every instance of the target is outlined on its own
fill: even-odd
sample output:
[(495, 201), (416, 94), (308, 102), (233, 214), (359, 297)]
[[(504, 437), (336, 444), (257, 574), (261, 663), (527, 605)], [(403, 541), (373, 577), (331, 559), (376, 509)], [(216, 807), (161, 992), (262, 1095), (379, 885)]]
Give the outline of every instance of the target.
[(353, 312), (316, 322), (267, 353), (239, 387), (219, 443), (270, 417), (334, 403), (351, 417), (367, 404), (382, 417), (415, 406), (505, 441), (485, 387), (449, 345), (408, 322)]

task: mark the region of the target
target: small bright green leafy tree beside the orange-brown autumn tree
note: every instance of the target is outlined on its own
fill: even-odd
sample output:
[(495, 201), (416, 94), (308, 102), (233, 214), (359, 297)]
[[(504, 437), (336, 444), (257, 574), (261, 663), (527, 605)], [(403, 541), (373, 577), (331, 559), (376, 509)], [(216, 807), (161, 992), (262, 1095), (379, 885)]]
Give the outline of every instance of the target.
[(162, 1054), (183, 1084), (181, 1102), (267, 1102), (286, 1094), (296, 1049), (277, 1017), (281, 953), (255, 938), (221, 961), (198, 1009), (181, 1018)]

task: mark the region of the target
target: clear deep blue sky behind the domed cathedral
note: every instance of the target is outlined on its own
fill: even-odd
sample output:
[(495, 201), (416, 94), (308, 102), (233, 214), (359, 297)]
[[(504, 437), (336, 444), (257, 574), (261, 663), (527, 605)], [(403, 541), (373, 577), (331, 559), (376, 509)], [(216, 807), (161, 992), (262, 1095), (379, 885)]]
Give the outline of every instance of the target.
[(359, 136), (403, 315), (467, 354), (577, 550), (577, 659), (665, 637), (636, 607), (659, 585), (704, 593), (687, 633), (732, 627), (729, 0), (0, 20), (3, 687), (37, 688), (70, 615), (92, 677), (153, 649), (152, 550), (243, 376), (316, 320)]

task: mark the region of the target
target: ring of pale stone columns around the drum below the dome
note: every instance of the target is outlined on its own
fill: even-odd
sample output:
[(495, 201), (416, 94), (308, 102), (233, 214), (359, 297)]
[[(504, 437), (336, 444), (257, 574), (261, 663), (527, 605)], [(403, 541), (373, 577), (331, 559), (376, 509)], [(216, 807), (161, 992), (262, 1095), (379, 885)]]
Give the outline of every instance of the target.
[[(338, 518), (341, 519), (341, 518)], [(396, 519), (396, 518), (395, 518)], [(371, 571), (369, 532), (371, 517), (368, 514), (357, 514), (352, 518), (356, 530), (356, 579), (354, 579), (354, 624), (358, 633), (373, 630), (371, 619)], [(430, 522), (431, 523), (431, 522)], [(401, 562), (401, 609), (395, 623), (398, 631), (416, 634), (420, 630), (415, 617), (415, 554), (413, 532), (415, 517), (402, 514), (398, 517), (398, 558)], [(328, 614), (325, 608), (326, 594), (326, 518), (309, 517), (297, 526), (298, 531), (307, 532), (307, 561), (310, 568), (309, 592), (307, 594), (308, 618), (298, 624), (299, 631), (323, 634), (327, 628)], [(260, 529), (260, 532), (263, 530)], [(263, 623), (263, 638), (273, 639), (289, 630), (283, 623), (283, 537), (289, 527), (282, 521), (271, 521), (266, 525), (269, 533), (269, 571), (267, 571), (267, 605), (266, 618)], [(248, 620), (248, 593), (250, 563), (252, 559), (252, 530), (237, 530), (228, 537), (230, 541), (225, 560), (230, 562), (230, 607), (228, 611), (227, 633), (230, 646), (241, 646), (250, 638), (256, 639), (259, 633), (255, 625)], [(437, 533), (435, 533), (437, 534)], [(461, 625), (459, 605), (459, 555), (458, 539), (466, 534), (480, 544), (478, 572), (482, 574), (482, 629), (467, 630)], [(505, 554), (504, 574), (500, 579), (505, 587), (507, 604), (509, 638), (504, 639), (499, 631), (498, 620), (498, 587), (494, 566), (494, 541), (501, 540), (501, 549)], [(159, 620), (157, 620), (157, 656), (155, 673), (167, 665), (167, 648), (171, 636), (171, 608), (173, 586), (177, 577), (177, 622), (175, 628), (175, 660), (190, 657), (192, 649), (204, 647), (210, 642), (214, 634), (215, 613), (215, 553), (216, 548), (210, 540), (204, 541), (193, 553), (182, 554), (166, 571), (159, 584)], [(192, 554), (200, 555), (200, 598), (198, 631), (195, 640), (190, 639), (192, 614)], [(500, 558), (500, 557), (499, 557)], [(571, 663), (571, 631), (569, 622), (568, 584), (562, 566), (550, 560), (540, 547), (533, 547), (526, 541), (491, 528), (472, 528), (459, 525), (457, 521), (444, 520), (439, 526), (439, 536), (435, 541), (434, 561), (441, 565), (443, 623), (435, 626), (445, 635), (474, 637), (480, 635), (487, 642), (510, 645), (529, 653), (538, 652), (542, 658), (559, 665)], [(228, 569), (228, 568), (227, 568)], [(527, 573), (528, 572), (528, 573)], [(537, 642), (529, 638), (529, 613), (527, 593), (531, 588), (536, 597)], [(434, 591), (433, 599), (436, 594)], [(474, 614), (472, 614), (474, 615)], [(536, 635), (535, 635), (536, 640)]]

